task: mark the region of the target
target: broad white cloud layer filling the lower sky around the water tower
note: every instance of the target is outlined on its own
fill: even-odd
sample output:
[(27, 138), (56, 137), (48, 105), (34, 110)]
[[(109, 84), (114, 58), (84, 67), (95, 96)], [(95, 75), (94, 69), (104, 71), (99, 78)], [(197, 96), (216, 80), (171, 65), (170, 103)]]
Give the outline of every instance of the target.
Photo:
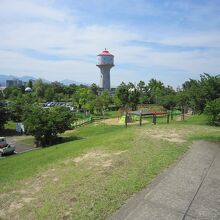
[[(220, 52), (219, 31), (181, 33), (136, 32), (124, 25), (80, 25), (79, 12), (67, 7), (58, 8), (54, 1), (2, 0), (0, 4), (0, 73), (35, 74), (49, 80), (64, 78), (86, 83), (99, 82), (96, 55), (105, 47), (115, 55), (112, 84), (121, 81), (139, 81), (147, 73), (159, 71), (157, 76), (169, 78), (179, 72), (200, 74), (217, 72)], [(129, 12), (128, 8), (128, 12)], [(140, 10), (137, 5), (135, 10)], [(143, 9), (144, 13), (144, 9)], [(159, 12), (158, 12), (159, 13)], [(184, 52), (159, 52), (144, 46), (129, 44), (132, 40), (152, 41), (178, 46), (202, 46), (213, 49)], [(45, 54), (30, 57), (24, 49)], [(46, 56), (63, 57), (60, 61)], [(118, 68), (120, 64), (133, 68)], [(136, 68), (136, 69), (135, 69)], [(177, 70), (176, 75), (174, 71)], [(144, 72), (140, 72), (144, 71)], [(178, 72), (179, 71), (179, 72)], [(149, 76), (152, 76), (149, 74)], [(171, 80), (172, 81), (172, 80)]]

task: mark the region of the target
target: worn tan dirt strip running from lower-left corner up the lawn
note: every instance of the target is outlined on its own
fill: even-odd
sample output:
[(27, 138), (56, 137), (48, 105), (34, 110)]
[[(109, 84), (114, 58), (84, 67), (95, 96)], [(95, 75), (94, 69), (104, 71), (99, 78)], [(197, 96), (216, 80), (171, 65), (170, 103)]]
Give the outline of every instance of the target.
[[(45, 192), (54, 187), (54, 184), (62, 186), (63, 177), (70, 175), (75, 166), (78, 167), (76, 169), (85, 166), (87, 170), (95, 169), (99, 173), (110, 171), (114, 166), (115, 158), (125, 152), (91, 151), (76, 158), (63, 160), (56, 168), (49, 168), (34, 178), (19, 183), (14, 190), (1, 194), (0, 219), (20, 219), (23, 212), (41, 206), (42, 202), (46, 200), (45, 196), (47, 197)], [(71, 197), (71, 201), (75, 203), (77, 199)], [(68, 213), (65, 213), (64, 216), (68, 216)]]

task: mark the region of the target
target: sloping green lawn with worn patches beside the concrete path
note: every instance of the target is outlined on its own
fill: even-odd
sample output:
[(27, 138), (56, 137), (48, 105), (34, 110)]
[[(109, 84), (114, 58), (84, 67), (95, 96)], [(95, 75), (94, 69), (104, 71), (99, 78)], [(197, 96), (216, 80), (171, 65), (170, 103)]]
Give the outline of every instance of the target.
[(204, 116), (142, 127), (90, 124), (69, 142), (0, 160), (0, 218), (104, 219), (186, 152), (220, 141)]

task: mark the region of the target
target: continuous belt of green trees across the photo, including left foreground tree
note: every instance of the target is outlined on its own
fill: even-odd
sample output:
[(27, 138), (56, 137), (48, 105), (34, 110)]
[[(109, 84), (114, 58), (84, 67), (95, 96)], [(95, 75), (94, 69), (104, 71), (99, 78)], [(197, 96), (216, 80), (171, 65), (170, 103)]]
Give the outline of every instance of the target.
[[(181, 88), (173, 89), (157, 79), (143, 80), (137, 84), (122, 82), (114, 94), (102, 91), (96, 84), (91, 86), (64, 86), (59, 82), (47, 83), (41, 79), (28, 83), (32, 92), (23, 86), (8, 87), (1, 96), (0, 129), (7, 120), (23, 121), (38, 145), (49, 145), (58, 133), (69, 128), (72, 118), (67, 108), (42, 108), (42, 102), (69, 102), (80, 112), (104, 114), (110, 105), (136, 110), (138, 105), (162, 105), (168, 110), (191, 108), (194, 113), (205, 112), (210, 123), (219, 118), (220, 75), (203, 73), (199, 80), (189, 79)], [(7, 105), (6, 105), (7, 100)]]

